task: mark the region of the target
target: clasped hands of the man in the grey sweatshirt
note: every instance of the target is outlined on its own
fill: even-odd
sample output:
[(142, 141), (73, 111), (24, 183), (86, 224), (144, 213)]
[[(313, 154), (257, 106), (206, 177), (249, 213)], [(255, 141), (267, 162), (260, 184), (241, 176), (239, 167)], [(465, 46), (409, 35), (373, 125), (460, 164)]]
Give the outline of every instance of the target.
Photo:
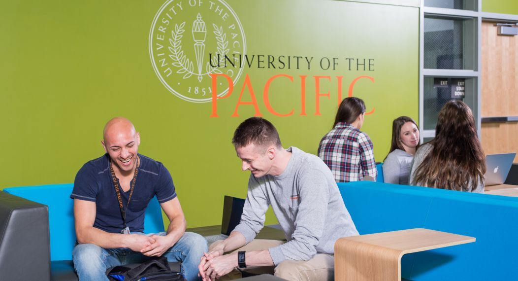
[(216, 246), (205, 252), (198, 265), (198, 276), (203, 281), (213, 281), (228, 274), (237, 267), (237, 254), (223, 255), (223, 249)]

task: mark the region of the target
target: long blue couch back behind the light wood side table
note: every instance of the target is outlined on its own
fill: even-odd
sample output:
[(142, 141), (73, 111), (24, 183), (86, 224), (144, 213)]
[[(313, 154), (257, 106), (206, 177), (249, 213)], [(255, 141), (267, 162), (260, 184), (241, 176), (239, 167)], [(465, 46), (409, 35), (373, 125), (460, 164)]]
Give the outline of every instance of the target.
[(427, 228), (476, 237), (405, 255), (411, 280), (516, 280), (518, 198), (379, 182), (338, 184), (360, 234)]

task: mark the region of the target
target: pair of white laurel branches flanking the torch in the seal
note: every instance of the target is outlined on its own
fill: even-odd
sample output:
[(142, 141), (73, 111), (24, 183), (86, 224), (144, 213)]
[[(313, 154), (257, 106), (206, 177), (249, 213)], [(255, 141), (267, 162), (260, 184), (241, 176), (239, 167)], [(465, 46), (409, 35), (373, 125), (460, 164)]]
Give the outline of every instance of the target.
[[(192, 75), (210, 75), (212, 73), (221, 74), (222, 72), (217, 67), (212, 67), (209, 62), (207, 62), (205, 71), (206, 73), (197, 74), (194, 73), (194, 64), (187, 55), (182, 50), (182, 37), (185, 32), (185, 22), (182, 22), (180, 25), (175, 24), (175, 30), (171, 31), (171, 38), (169, 38), (169, 58), (172, 60), (172, 65), (178, 67), (178, 74), (184, 74), (183, 79), (187, 79)], [(218, 60), (217, 55), (212, 56), (212, 64), (219, 65), (219, 63), (225, 62), (225, 54), (228, 53), (228, 40), (226, 39), (226, 33), (223, 32), (223, 26), (218, 26), (216, 24), (212, 24), (214, 29), (213, 33), (218, 43), (217, 53), (220, 54), (220, 59)]]

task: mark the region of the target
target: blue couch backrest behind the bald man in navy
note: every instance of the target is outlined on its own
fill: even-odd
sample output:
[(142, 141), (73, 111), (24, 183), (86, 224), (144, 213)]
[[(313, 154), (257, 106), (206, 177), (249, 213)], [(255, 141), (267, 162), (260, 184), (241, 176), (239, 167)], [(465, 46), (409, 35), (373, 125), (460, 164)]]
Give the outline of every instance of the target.
[[(76, 244), (74, 200), (70, 199), (73, 184), (5, 188), (4, 192), (45, 204), (49, 207), (50, 260), (71, 260)], [(27, 230), (30, 231), (30, 230)], [(162, 209), (156, 197), (149, 202), (144, 231), (164, 231)]]

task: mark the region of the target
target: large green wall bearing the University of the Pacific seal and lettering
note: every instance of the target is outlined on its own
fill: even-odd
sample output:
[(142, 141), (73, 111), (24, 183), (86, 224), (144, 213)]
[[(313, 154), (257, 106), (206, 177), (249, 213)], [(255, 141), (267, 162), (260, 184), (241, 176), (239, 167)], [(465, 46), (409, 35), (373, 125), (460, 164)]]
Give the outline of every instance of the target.
[[(171, 9), (175, 5), (183, 8)], [(157, 16), (161, 7), (168, 16)], [(195, 22), (198, 13), (204, 24)], [(0, 188), (73, 182), (85, 162), (104, 153), (106, 121), (124, 116), (140, 132), (139, 152), (171, 172), (188, 226), (208, 226), (220, 223), (223, 195), (246, 196), (249, 172), (241, 171), (231, 144), (242, 120), (260, 114), (276, 125), (284, 147), (316, 153), (332, 126), (339, 89), (342, 98), (352, 91), (373, 110), (362, 130), (382, 161), (392, 120), (418, 118), (416, 7), (330, 0), (30, 0), (5, 2), (0, 21)], [(218, 53), (255, 60), (250, 67), (207, 66), (209, 55)], [(298, 68), (294, 61), (288, 67), (287, 57), (301, 57)], [(357, 65), (364, 59), (365, 69)], [(214, 105), (209, 74), (220, 73), (235, 86)], [(215, 85), (223, 95), (228, 81), (220, 76)], [(219, 117), (211, 117), (214, 109)], [(269, 214), (268, 222), (275, 217)]]

